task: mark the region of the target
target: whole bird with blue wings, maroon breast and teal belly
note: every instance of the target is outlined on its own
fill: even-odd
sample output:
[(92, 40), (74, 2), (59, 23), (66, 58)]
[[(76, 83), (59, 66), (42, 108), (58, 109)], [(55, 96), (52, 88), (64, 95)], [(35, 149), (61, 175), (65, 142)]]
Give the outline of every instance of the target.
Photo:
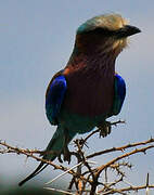
[[(53, 161), (64, 154), (64, 160), (69, 161), (68, 144), (77, 133), (99, 127), (104, 136), (110, 134), (106, 119), (120, 113), (126, 96), (126, 83), (115, 70), (115, 62), (127, 48), (128, 37), (140, 31), (117, 13), (94, 16), (78, 27), (68, 63), (47, 89), (47, 118), (57, 128), (42, 159)], [(40, 162), (18, 185), (47, 166)]]

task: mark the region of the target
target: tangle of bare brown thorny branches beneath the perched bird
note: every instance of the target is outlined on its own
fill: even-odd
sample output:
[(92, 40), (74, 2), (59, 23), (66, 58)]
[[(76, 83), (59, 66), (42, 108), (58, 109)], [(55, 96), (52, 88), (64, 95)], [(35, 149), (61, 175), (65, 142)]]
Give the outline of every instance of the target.
[[(111, 122), (111, 123), (107, 122), (107, 123), (110, 123), (110, 126), (116, 126), (117, 123), (123, 123), (123, 122), (124, 121), (118, 120), (116, 122)], [(55, 165), (50, 160), (42, 159), (38, 155), (42, 156), (44, 154), (44, 151), (24, 150), (20, 147), (14, 147), (3, 141), (0, 141), (0, 154), (8, 154), (8, 153), (14, 153), (18, 155), (23, 154), (26, 157), (34, 158), (37, 161), (43, 161), (52, 166), (54, 169), (59, 169), (63, 171), (62, 174), (49, 181), (47, 184), (52, 183), (53, 181), (57, 180), (64, 174), (67, 173), (70, 174), (73, 178), (69, 182), (69, 186), (67, 191), (55, 190), (52, 187), (44, 187), (51, 191), (61, 192), (63, 194), (74, 194), (74, 195), (75, 194), (78, 195), (125, 194), (126, 195), (128, 194), (128, 192), (131, 191), (138, 192), (140, 190), (146, 190), (147, 192), (150, 191), (150, 188), (154, 188), (154, 185), (149, 184), (149, 173), (145, 184), (140, 186), (128, 184), (128, 187), (123, 187), (124, 183), (128, 183), (124, 180), (127, 177), (124, 169), (131, 169), (132, 167), (131, 164), (127, 161), (127, 157), (137, 155), (139, 153), (146, 154), (146, 151), (149, 151), (150, 148), (154, 148), (154, 139), (151, 138), (142, 142), (129, 143), (118, 147), (106, 148), (104, 151), (100, 151), (87, 156), (84, 151), (85, 145), (87, 146), (87, 141), (98, 132), (100, 132), (100, 129), (97, 129), (95, 131), (91, 132), (85, 139), (80, 139), (80, 140), (78, 139), (74, 141), (76, 150), (74, 152), (70, 152), (70, 155), (76, 157), (77, 164), (73, 167), (64, 167), (62, 165)], [(101, 133), (102, 132), (100, 132), (100, 135)], [(110, 132), (105, 132), (105, 135), (107, 135), (108, 133)], [(113, 152), (117, 153), (117, 157), (114, 157), (104, 165), (97, 166), (94, 161), (90, 161), (90, 158), (93, 158), (95, 156), (102, 156), (105, 154), (110, 154), (112, 157)], [(118, 152), (123, 152), (123, 154), (119, 155)], [(114, 179), (112, 178), (113, 181), (108, 182), (108, 180), (111, 179), (110, 178), (111, 170), (114, 170), (115, 178)], [(73, 188), (75, 191), (73, 191)]]

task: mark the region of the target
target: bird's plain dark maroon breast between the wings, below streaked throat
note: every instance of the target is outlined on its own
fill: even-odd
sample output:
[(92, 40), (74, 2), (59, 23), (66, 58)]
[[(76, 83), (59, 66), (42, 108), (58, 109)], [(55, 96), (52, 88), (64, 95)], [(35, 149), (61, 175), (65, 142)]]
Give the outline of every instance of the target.
[(64, 107), (67, 110), (90, 117), (110, 114), (114, 98), (114, 74), (80, 69), (68, 74), (66, 80)]

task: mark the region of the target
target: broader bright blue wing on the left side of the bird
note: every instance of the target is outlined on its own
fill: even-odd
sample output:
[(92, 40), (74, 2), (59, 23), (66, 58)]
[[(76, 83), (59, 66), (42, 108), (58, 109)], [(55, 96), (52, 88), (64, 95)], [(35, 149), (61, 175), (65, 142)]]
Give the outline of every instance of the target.
[(55, 77), (53, 77), (47, 89), (46, 114), (52, 125), (57, 125), (59, 122), (57, 116), (61, 110), (61, 105), (64, 100), (66, 88), (66, 79), (60, 73), (57, 76), (55, 75)]

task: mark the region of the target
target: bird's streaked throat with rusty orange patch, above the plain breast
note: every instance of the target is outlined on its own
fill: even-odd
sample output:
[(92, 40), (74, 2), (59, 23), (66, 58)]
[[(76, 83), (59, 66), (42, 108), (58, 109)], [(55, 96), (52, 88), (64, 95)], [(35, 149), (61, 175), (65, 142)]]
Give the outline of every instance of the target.
[(102, 77), (113, 77), (115, 74), (115, 60), (114, 52), (103, 52), (102, 49), (95, 49), (93, 52), (80, 52), (74, 50), (68, 64), (65, 68), (65, 74), (81, 72), (84, 75), (91, 75), (91, 72)]

